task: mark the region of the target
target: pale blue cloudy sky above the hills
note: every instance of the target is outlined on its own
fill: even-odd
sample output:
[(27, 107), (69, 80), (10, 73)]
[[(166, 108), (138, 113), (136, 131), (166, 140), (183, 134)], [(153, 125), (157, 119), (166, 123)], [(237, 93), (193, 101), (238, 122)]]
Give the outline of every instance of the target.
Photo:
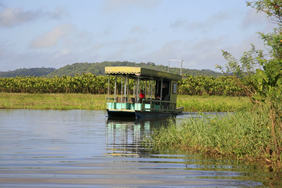
[(0, 71), (170, 59), (216, 70), (221, 50), (263, 49), (256, 32), (273, 27), (245, 0), (0, 0)]

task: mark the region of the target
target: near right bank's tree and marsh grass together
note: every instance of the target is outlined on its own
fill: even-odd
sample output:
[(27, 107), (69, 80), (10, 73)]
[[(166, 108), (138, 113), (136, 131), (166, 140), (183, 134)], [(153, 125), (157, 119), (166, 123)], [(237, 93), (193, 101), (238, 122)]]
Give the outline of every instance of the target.
[(254, 108), (225, 117), (191, 118), (180, 125), (171, 121), (145, 137), (144, 143), (264, 160), (282, 167), (282, 2), (257, 0), (247, 6), (277, 24), (271, 33), (258, 33), (269, 54), (253, 44), (239, 60), (222, 51), (227, 63), (217, 68), (234, 75), (234, 83)]

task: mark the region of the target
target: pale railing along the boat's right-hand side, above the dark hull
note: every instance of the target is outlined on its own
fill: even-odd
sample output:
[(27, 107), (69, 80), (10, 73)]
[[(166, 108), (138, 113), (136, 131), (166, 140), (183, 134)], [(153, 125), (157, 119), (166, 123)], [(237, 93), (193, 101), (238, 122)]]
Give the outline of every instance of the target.
[[(146, 102), (150, 102), (147, 104)], [(157, 104), (159, 105), (157, 105)], [(164, 109), (164, 104), (167, 103), (167, 109)], [(141, 105), (141, 110), (155, 110), (155, 111), (172, 111), (175, 109), (171, 109), (169, 104), (175, 104), (176, 102), (174, 101), (169, 101), (169, 100), (155, 100), (155, 99), (143, 99), (142, 105)], [(150, 105), (150, 108), (146, 108), (146, 104)]]

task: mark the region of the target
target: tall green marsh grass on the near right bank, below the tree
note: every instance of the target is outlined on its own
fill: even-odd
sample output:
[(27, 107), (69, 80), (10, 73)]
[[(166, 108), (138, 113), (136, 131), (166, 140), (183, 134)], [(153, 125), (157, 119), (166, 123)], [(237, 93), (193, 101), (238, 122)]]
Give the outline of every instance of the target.
[[(265, 160), (281, 166), (282, 156), (272, 152), (274, 145), (270, 127), (269, 117), (263, 112), (188, 118), (179, 125), (171, 120), (167, 125), (155, 128), (142, 143), (244, 160)], [(280, 129), (277, 132), (281, 142), (282, 132)]]

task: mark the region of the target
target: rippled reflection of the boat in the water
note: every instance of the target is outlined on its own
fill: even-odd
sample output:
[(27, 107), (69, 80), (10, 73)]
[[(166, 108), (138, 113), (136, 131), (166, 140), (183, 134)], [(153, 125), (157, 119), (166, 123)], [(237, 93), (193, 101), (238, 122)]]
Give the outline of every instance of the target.
[(124, 118), (108, 117), (106, 121), (107, 156), (140, 157), (150, 154), (150, 147), (141, 145), (144, 136), (150, 135), (153, 128), (176, 122), (171, 117)]

